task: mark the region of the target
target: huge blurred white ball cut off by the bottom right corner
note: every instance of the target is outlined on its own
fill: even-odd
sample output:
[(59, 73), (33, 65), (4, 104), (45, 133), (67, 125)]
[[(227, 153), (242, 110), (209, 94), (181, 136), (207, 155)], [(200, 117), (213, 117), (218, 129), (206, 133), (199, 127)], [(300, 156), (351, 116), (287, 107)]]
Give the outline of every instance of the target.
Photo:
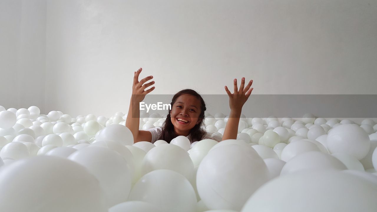
[[(376, 196), (373, 183), (351, 174), (302, 172), (271, 180), (249, 198), (241, 212), (374, 212), (376, 203), (371, 197)], [(308, 202), (316, 204), (308, 207)]]

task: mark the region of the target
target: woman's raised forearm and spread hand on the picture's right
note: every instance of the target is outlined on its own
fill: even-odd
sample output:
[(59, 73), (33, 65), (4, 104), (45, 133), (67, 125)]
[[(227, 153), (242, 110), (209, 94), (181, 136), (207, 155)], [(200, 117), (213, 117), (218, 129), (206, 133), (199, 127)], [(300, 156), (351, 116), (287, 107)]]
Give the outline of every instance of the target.
[[(224, 135), (222, 136), (222, 141), (227, 139), (236, 139), (238, 133), (238, 124), (239, 119), (241, 117), (242, 107), (244, 106), (245, 102), (249, 98), (251, 91), (253, 88), (250, 89), (251, 84), (253, 84), (253, 80), (250, 80), (247, 84), (246, 88), (244, 89), (245, 78), (242, 77), (241, 86), (237, 86), (237, 79), (234, 79), (234, 93), (231, 94), (228, 87), (225, 86), (225, 91), (229, 96), (229, 107), (230, 107), (230, 114), (227, 121), (227, 125), (225, 126)], [(250, 89), (250, 90), (249, 90)]]

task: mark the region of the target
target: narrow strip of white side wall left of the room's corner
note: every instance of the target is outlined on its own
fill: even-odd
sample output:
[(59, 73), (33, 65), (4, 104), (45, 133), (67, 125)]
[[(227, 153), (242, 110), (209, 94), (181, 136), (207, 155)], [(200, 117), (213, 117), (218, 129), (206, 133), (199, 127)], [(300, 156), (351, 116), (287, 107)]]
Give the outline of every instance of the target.
[(0, 105), (45, 111), (46, 0), (1, 0), (0, 29)]

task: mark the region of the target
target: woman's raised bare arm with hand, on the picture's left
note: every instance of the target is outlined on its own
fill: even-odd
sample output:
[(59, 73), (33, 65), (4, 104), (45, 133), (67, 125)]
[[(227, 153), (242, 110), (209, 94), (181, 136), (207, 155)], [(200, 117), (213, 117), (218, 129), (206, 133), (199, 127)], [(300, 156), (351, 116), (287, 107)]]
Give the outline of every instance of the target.
[[(139, 104), (141, 101), (144, 100), (145, 95), (147, 95), (149, 92), (153, 91), (155, 87), (153, 86), (152, 88), (144, 91), (147, 87), (151, 86), (155, 82), (152, 81), (150, 83), (144, 84), (146, 81), (151, 80), (153, 76), (146, 77), (142, 80), (139, 79), (139, 74), (141, 72), (141, 68), (134, 72), (133, 76), (133, 85), (132, 85), (132, 95), (131, 95), (131, 100), (130, 100), (130, 107), (128, 109), (128, 115), (126, 118), (126, 127), (130, 129), (133, 135), (133, 143), (139, 141), (140, 133), (139, 133), (139, 124), (140, 124), (140, 109), (139, 109)], [(144, 85), (143, 85), (144, 84)], [(143, 139), (145, 140), (146, 136), (149, 138), (150, 132), (145, 132), (143, 134)], [(144, 138), (145, 137), (145, 138)], [(152, 137), (150, 135), (150, 137)]]

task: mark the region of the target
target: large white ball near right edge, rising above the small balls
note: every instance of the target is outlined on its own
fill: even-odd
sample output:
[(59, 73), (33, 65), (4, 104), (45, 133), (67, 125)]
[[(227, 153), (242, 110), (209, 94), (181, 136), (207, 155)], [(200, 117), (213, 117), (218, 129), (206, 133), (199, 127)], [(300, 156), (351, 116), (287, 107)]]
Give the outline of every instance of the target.
[(331, 153), (345, 153), (361, 160), (370, 148), (368, 134), (356, 124), (341, 124), (327, 136), (327, 148)]

